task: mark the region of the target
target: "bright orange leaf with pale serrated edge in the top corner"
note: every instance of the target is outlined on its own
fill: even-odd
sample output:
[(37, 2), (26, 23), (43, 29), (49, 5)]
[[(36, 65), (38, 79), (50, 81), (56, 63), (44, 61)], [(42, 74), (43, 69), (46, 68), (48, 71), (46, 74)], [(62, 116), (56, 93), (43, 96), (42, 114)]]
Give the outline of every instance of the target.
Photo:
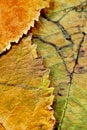
[(0, 53), (26, 34), (49, 0), (0, 0)]

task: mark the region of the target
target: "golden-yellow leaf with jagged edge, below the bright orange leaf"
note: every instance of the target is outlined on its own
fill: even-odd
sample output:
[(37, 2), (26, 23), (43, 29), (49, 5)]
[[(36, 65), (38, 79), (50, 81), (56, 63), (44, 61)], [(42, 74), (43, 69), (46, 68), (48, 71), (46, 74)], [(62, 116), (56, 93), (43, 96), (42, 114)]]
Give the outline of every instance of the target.
[(31, 37), (0, 57), (0, 129), (51, 130), (53, 88)]

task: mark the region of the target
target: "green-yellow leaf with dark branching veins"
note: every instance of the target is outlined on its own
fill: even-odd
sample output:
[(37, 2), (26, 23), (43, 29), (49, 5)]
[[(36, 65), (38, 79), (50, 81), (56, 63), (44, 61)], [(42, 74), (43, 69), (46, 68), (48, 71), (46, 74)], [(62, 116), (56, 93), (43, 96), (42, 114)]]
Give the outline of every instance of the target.
[(33, 43), (45, 66), (51, 70), (55, 94), (54, 129), (87, 129), (86, 16), (86, 1), (52, 0), (50, 9), (42, 11), (32, 29)]

